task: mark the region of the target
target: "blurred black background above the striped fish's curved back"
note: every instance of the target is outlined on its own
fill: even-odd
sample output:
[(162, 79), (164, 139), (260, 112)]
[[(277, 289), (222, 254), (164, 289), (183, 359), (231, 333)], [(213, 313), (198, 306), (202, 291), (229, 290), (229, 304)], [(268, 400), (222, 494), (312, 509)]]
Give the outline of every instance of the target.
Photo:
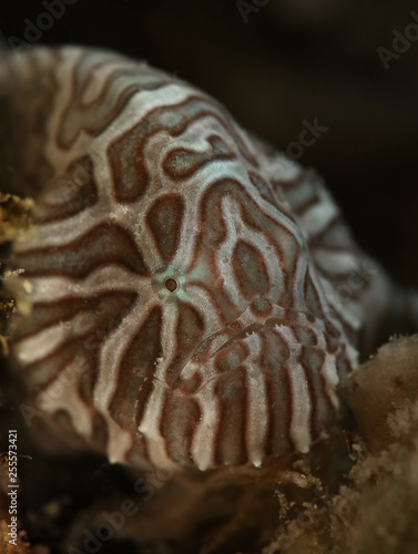
[[(78, 0), (39, 43), (145, 59), (217, 98), (279, 150), (317, 117), (329, 130), (299, 162), (326, 178), (360, 245), (417, 285), (418, 40), (388, 70), (376, 50), (392, 50), (395, 29), (418, 25), (418, 0), (264, 3), (245, 23), (235, 0)], [(41, 0), (1, 0), (6, 47), (45, 11)]]

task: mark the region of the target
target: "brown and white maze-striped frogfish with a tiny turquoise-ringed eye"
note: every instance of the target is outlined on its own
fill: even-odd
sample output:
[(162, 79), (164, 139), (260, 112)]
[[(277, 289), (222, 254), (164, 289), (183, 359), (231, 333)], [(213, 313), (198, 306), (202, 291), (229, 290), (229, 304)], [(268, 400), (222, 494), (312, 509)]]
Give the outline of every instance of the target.
[[(312, 171), (212, 98), (113, 52), (0, 63), (12, 367), (43, 433), (132, 466), (307, 452), (408, 300)], [(279, 124), (279, 122), (278, 122)]]

